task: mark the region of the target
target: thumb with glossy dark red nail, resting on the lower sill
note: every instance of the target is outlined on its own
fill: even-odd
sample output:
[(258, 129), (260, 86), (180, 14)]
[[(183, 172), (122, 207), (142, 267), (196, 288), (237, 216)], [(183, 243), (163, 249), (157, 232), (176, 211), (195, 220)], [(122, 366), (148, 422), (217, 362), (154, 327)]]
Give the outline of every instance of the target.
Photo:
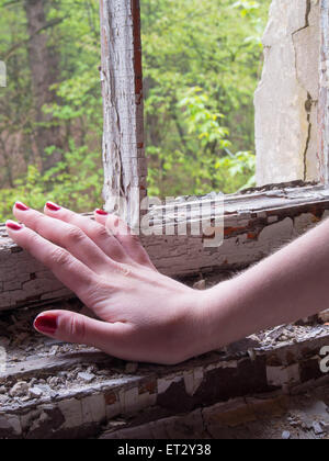
[(115, 356), (124, 325), (109, 324), (69, 311), (49, 311), (38, 315), (34, 328), (46, 336), (65, 342), (92, 346)]

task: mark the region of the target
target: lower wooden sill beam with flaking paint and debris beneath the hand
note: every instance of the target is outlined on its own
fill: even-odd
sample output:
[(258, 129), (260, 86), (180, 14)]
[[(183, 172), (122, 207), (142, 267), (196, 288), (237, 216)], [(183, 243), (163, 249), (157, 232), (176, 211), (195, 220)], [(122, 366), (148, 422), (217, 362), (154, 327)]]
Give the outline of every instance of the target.
[[(280, 339), (282, 335), (286, 339)], [(24, 357), (19, 363), (13, 349), (9, 353), (13, 367), (0, 374), (0, 387), (5, 387), (0, 394), (0, 438), (90, 437), (118, 416), (133, 416), (131, 421), (138, 425), (229, 398), (271, 395), (273, 390), (294, 393), (302, 384), (315, 385), (326, 378), (318, 355), (328, 345), (328, 327), (281, 327), (261, 336), (175, 367), (140, 363), (134, 373), (125, 362), (109, 363), (105, 355), (102, 362), (97, 353), (91, 383), (81, 383), (77, 375), (91, 363), (93, 352), (89, 349), (73, 359), (65, 353), (49, 359), (45, 351), (47, 360)], [(16, 355), (21, 353), (19, 349)], [(58, 383), (59, 369), (61, 376), (73, 378), (66, 381), (59, 376)], [(57, 384), (53, 384), (54, 378)], [(38, 383), (41, 379), (48, 384)], [(22, 381), (42, 387), (42, 395), (29, 397), (27, 391), (26, 395), (13, 395), (10, 391)]]

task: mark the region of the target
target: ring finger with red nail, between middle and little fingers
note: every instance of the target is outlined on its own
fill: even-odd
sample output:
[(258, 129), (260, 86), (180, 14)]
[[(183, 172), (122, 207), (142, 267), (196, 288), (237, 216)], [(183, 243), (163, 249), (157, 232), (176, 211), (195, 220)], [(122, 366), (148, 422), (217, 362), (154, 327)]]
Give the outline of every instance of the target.
[(129, 257), (106, 228), (88, 216), (73, 213), (55, 203), (47, 202), (44, 210), (47, 216), (79, 227), (106, 256), (117, 262), (129, 262)]

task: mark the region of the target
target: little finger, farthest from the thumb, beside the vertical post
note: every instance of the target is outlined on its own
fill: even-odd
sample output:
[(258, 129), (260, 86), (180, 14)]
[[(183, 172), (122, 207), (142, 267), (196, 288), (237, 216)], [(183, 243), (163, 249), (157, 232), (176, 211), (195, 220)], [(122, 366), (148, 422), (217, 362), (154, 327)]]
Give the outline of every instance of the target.
[(126, 254), (138, 265), (157, 270), (151, 262), (147, 251), (140, 244), (137, 235), (132, 235), (129, 227), (117, 216), (97, 210), (95, 221), (104, 226), (116, 237), (125, 249)]

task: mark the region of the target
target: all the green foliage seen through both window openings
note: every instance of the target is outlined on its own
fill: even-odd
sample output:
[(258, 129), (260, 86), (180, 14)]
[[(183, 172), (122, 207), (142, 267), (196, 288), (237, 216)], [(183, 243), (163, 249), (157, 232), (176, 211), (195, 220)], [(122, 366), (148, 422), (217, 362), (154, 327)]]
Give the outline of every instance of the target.
[[(36, 123), (23, 2), (0, 0), (0, 58), (9, 70), (9, 86), (0, 89), (0, 221), (15, 200), (36, 209), (53, 200), (77, 211), (102, 201), (98, 2), (46, 3), (56, 25), (44, 33), (59, 53), (60, 79), (43, 111), (52, 115), (49, 127), (60, 126), (64, 157), (41, 172), (31, 142)], [(229, 193), (254, 184), (252, 100), (269, 5), (141, 0), (150, 194)]]

